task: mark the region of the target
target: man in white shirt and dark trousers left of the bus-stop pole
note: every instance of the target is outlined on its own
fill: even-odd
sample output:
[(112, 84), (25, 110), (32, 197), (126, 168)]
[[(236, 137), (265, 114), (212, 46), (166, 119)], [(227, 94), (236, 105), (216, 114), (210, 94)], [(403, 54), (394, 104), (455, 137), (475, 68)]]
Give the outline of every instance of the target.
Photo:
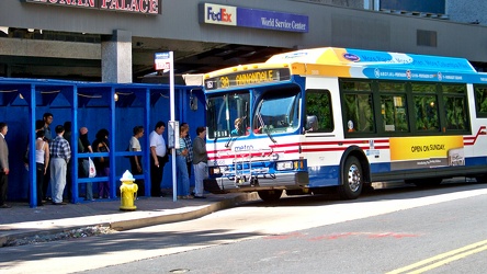
[(160, 197), (162, 183), (162, 175), (166, 162), (168, 162), (167, 147), (162, 133), (166, 129), (166, 123), (157, 122), (154, 132), (149, 135), (150, 145), (150, 195), (152, 197)]

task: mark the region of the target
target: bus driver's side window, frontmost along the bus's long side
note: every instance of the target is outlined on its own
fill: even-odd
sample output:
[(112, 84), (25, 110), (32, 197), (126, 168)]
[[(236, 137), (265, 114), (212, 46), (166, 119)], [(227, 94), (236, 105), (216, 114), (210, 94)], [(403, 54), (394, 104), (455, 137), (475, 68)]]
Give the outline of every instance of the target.
[[(306, 132), (330, 133), (333, 130), (331, 94), (328, 90), (306, 90)], [(319, 118), (318, 118), (319, 117)]]

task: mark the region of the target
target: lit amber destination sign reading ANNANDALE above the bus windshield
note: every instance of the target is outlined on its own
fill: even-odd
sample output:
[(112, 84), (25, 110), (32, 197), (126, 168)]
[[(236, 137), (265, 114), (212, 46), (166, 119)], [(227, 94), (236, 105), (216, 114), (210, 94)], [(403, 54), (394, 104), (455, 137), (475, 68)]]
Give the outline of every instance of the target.
[(246, 70), (205, 80), (206, 90), (228, 89), (250, 84), (286, 81), (291, 79), (287, 68)]

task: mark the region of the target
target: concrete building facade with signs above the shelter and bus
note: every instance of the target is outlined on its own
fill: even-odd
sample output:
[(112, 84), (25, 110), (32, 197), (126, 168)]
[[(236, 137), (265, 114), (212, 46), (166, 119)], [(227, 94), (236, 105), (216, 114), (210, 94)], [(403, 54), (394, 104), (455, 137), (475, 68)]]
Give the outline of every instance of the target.
[[(479, 70), (487, 62), (487, 28), (480, 16), (487, 3), (480, 1), (476, 5), (448, 0), (433, 5), (392, 0), (127, 2), (1, 1), (0, 76), (137, 82), (155, 72), (155, 54), (160, 52), (174, 52), (177, 73), (202, 73), (318, 46), (464, 57)], [(202, 4), (212, 9), (214, 22), (205, 21)], [(264, 15), (247, 25), (229, 24), (219, 15), (224, 10), (245, 11), (247, 21)], [(443, 18), (434, 13), (442, 10)], [(305, 18), (307, 26), (270, 27), (270, 14), (278, 14), (281, 22)], [(268, 27), (259, 26), (265, 16)], [(479, 24), (471, 24), (477, 20)]]

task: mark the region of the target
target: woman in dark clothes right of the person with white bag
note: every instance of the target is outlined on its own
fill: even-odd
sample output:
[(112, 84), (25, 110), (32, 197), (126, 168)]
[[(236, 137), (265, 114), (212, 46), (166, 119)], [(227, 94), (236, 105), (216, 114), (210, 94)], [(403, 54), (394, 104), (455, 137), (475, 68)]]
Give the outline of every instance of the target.
[[(102, 128), (98, 130), (95, 140), (92, 144), (93, 152), (110, 152), (109, 146), (109, 130)], [(110, 157), (95, 157), (94, 167), (97, 167), (97, 174), (100, 176), (110, 175)], [(99, 198), (110, 198), (110, 185), (109, 182), (99, 183)]]

